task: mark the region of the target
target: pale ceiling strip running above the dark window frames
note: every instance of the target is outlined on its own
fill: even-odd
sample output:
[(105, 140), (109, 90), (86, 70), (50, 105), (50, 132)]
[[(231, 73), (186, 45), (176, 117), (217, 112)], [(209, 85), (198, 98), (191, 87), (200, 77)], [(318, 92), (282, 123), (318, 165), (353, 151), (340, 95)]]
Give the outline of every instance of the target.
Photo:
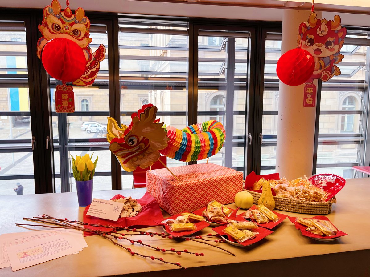
[[(65, 7), (65, 0), (59, 1)], [(311, 9), (311, 0), (291, 1), (305, 2), (294, 9)], [(0, 7), (44, 8), (50, 3), (51, 0), (0, 0)], [(280, 0), (70, 0), (70, 7), (122, 14), (282, 21), (283, 10), (287, 9), (284, 3)], [(322, 17), (326, 18), (339, 14), (344, 25), (370, 27), (370, 0), (315, 0), (315, 10), (323, 11)]]

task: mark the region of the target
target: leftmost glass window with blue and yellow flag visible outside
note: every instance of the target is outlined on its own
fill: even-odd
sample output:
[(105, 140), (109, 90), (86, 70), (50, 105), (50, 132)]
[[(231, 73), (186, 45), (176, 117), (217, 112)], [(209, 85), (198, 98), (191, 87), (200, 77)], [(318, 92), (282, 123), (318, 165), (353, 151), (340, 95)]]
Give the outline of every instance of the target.
[(0, 45), (0, 194), (34, 194), (24, 23), (1, 22)]

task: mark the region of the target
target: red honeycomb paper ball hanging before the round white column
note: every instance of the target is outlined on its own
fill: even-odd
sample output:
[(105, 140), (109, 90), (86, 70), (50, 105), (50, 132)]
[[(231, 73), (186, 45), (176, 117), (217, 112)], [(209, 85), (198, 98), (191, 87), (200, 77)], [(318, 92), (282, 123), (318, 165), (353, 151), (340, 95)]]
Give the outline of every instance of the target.
[(315, 61), (308, 51), (295, 48), (280, 57), (276, 73), (286, 85), (299, 86), (312, 76), (314, 66)]

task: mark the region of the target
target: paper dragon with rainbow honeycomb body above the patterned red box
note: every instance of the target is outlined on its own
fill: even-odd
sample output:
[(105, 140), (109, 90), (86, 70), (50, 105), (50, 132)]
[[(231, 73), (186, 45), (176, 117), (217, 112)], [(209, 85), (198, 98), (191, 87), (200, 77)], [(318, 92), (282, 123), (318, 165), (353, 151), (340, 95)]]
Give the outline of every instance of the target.
[(128, 127), (123, 124), (119, 127), (114, 118), (108, 117), (109, 149), (124, 170), (133, 171), (138, 166), (147, 168), (160, 154), (187, 162), (211, 157), (222, 148), (225, 129), (221, 122), (209, 120), (179, 130), (163, 127), (164, 123), (155, 119), (156, 113), (157, 107), (144, 105), (132, 114)]

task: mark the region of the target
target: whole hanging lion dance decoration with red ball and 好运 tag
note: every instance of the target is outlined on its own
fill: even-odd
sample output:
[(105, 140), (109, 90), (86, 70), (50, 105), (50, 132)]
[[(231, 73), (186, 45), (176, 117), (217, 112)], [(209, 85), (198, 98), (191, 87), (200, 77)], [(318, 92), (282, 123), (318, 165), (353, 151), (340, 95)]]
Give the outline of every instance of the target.
[[(100, 69), (100, 62), (105, 59), (105, 47), (100, 44), (95, 52), (89, 47), (90, 20), (83, 8), (72, 13), (68, 7), (61, 10), (57, 0), (44, 8), (44, 17), (38, 25), (43, 35), (37, 41), (37, 57), (44, 68), (55, 79), (63, 82), (55, 91), (55, 109), (57, 112), (74, 112), (72, 82), (76, 86), (89, 87), (94, 83)], [(65, 92), (68, 92), (67, 95)], [(71, 96), (72, 95), (72, 96)], [(68, 105), (65, 98), (68, 97)]]

